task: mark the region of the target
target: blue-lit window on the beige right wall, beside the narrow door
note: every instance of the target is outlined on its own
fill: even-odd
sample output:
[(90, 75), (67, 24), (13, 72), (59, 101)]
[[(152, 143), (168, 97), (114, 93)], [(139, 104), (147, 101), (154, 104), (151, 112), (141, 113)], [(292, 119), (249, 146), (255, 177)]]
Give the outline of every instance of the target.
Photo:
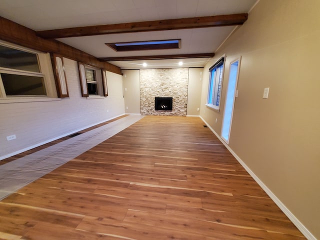
[(222, 89), (224, 57), (221, 57), (210, 68), (207, 106), (219, 110)]

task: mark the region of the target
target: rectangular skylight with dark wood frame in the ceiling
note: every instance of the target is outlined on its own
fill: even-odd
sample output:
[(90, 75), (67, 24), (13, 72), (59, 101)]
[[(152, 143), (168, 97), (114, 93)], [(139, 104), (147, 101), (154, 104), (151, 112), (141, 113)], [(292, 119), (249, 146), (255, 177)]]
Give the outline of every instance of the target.
[(115, 51), (137, 51), (180, 48), (181, 39), (105, 43)]

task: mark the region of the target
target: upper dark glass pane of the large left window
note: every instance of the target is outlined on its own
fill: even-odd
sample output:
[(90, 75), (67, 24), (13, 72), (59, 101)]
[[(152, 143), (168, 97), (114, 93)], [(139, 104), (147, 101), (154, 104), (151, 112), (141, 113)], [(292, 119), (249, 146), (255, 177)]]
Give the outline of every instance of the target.
[(40, 72), (36, 54), (0, 45), (0, 66)]

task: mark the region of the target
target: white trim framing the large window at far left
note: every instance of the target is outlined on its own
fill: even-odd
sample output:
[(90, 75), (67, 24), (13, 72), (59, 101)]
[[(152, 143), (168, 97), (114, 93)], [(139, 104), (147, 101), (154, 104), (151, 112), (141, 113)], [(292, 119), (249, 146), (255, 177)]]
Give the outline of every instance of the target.
[(30, 52), (37, 54), (38, 57), (38, 63), (40, 72), (28, 72), (18, 69), (12, 69), (12, 68), (5, 68), (0, 67), (0, 72), (3, 73), (23, 73), (23, 75), (33, 75), (33, 76), (41, 76), (44, 79), (44, 87), (46, 91), (46, 95), (36, 95), (36, 96), (6, 96), (4, 91), (4, 86), (2, 80), (0, 80), (0, 103), (13, 103), (13, 102), (32, 102), (32, 101), (52, 101), (53, 99), (57, 97), (56, 88), (55, 88), (55, 81), (52, 71), (52, 65), (51, 65), (51, 59), (49, 53), (43, 53), (37, 50), (33, 50), (27, 47), (22, 47), (13, 43), (9, 43), (6, 41), (0, 40), (0, 44), (15, 48), (18, 50)]

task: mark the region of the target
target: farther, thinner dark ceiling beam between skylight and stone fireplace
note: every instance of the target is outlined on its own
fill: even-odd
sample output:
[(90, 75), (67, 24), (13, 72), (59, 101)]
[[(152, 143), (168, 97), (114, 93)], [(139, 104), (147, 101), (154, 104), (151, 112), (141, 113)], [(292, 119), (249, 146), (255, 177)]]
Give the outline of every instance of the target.
[(155, 60), (155, 59), (175, 59), (175, 58), (198, 58), (213, 57), (214, 53), (193, 53), (193, 54), (174, 54), (174, 55), (153, 55), (153, 56), (119, 56), (119, 57), (100, 57), (100, 61), (129, 61), (129, 60)]

